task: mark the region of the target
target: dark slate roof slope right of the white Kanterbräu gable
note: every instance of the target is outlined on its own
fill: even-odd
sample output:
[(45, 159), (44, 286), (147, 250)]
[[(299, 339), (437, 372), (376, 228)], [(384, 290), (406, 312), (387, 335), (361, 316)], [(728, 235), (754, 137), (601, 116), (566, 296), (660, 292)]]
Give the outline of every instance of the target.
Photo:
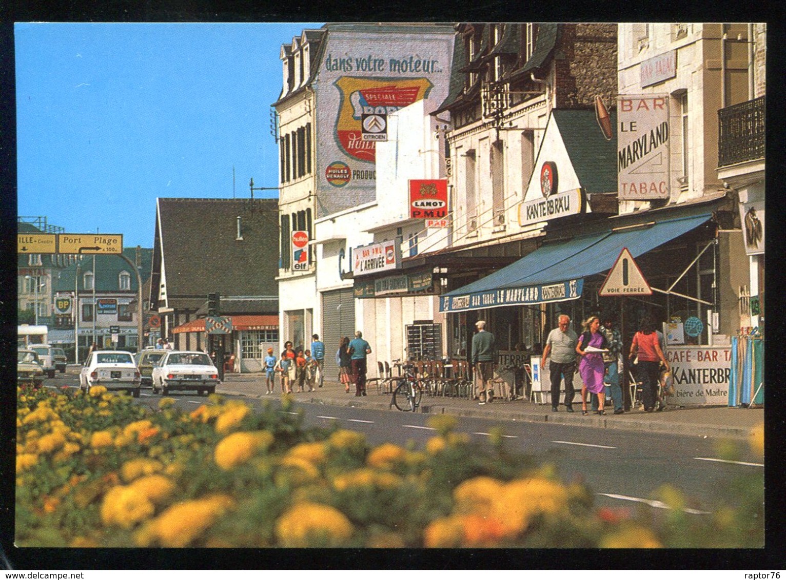
[[(554, 121), (571, 158), (578, 182), (588, 193), (617, 191), (617, 133), (606, 140), (597, 125), (595, 111), (582, 109), (553, 109)], [(616, 126), (617, 112), (609, 111), (612, 127)]]

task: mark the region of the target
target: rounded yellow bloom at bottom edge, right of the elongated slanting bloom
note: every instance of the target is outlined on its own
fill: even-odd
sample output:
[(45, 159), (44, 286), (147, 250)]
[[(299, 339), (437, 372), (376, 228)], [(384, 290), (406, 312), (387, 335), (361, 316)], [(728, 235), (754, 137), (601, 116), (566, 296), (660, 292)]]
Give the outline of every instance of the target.
[(281, 545), (288, 548), (339, 546), (351, 538), (351, 522), (331, 505), (300, 503), (276, 522)]

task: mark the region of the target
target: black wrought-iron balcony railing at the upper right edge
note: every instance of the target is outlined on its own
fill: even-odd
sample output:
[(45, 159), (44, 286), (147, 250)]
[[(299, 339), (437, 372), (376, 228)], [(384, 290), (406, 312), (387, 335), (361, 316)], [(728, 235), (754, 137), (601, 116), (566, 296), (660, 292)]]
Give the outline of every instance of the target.
[(718, 167), (764, 159), (765, 97), (718, 111)]

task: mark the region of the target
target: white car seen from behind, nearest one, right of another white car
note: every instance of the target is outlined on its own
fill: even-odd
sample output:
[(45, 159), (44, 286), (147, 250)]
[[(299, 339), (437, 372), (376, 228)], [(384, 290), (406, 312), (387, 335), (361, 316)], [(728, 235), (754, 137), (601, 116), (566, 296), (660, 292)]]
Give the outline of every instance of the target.
[(152, 392), (196, 391), (200, 395), (215, 392), (219, 370), (204, 352), (168, 351), (152, 368)]

